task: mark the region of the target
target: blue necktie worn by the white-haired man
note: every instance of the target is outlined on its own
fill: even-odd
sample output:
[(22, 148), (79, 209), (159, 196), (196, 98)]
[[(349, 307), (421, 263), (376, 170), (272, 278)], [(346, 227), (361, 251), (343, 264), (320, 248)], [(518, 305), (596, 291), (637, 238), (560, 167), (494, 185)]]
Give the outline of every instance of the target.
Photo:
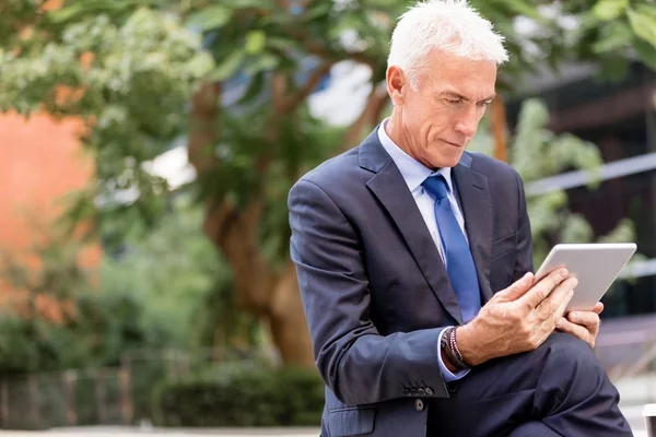
[(444, 176), (427, 177), (422, 186), (435, 196), (435, 221), (444, 249), (446, 272), (456, 293), (462, 320), (467, 323), (481, 308), (481, 293), (473, 258), (448, 202), (448, 186)]

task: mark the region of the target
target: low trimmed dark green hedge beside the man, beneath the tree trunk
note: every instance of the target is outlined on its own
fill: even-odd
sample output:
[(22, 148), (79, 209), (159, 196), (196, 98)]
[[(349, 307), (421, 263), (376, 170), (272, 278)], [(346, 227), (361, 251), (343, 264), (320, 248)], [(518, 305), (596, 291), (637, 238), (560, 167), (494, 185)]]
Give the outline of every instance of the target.
[(318, 426), (324, 382), (295, 368), (222, 368), (155, 390), (163, 426)]

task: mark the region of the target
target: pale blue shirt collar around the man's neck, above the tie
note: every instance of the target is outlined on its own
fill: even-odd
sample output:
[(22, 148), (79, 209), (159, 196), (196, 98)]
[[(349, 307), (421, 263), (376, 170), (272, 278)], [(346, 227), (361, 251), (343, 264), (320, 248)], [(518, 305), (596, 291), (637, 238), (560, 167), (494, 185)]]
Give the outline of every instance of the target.
[(442, 167), (437, 172), (433, 172), (419, 161), (408, 155), (401, 150), (401, 147), (396, 145), (387, 132), (385, 132), (385, 125), (387, 125), (387, 120), (389, 120), (389, 118), (383, 120), (378, 127), (378, 140), (380, 141), (380, 144), (383, 144), (383, 147), (385, 147), (385, 151), (389, 154), (389, 156), (391, 156), (391, 160), (401, 173), (401, 176), (403, 177), (403, 180), (406, 181), (410, 192), (417, 190), (427, 177), (434, 175), (444, 176), (449, 192), (453, 192), (454, 187), (450, 176), (450, 167)]

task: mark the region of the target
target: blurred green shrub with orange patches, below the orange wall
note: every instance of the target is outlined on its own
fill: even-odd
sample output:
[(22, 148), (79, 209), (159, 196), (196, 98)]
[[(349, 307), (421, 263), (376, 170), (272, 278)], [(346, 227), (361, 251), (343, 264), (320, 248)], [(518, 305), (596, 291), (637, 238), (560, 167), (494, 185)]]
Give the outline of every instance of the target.
[(97, 272), (81, 264), (83, 248), (54, 236), (26, 253), (3, 258), (0, 275), (16, 300), (0, 316), (0, 375), (113, 366), (125, 350), (171, 341), (164, 321), (143, 318), (143, 296), (94, 285)]

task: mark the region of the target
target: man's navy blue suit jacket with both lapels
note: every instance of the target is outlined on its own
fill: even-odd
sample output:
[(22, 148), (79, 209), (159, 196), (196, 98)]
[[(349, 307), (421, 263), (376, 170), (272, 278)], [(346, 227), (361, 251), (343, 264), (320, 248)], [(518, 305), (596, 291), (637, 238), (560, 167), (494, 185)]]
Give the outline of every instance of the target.
[[(523, 184), (508, 165), (468, 152), (453, 180), (485, 303), (532, 271)], [(417, 400), (448, 397), (437, 338), (461, 316), (376, 130), (303, 176), (289, 209), (291, 257), (326, 382), (324, 437), (424, 435), (426, 409)]]

